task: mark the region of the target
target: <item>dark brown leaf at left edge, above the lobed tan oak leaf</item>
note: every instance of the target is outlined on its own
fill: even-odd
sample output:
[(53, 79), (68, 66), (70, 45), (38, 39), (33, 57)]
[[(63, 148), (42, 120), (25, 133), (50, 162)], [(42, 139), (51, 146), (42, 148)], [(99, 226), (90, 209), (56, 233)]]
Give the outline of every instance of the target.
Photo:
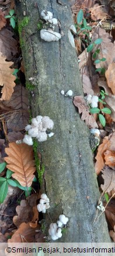
[(11, 60), (18, 52), (17, 41), (13, 38), (13, 35), (12, 31), (6, 29), (6, 27), (0, 31), (0, 51), (6, 56), (7, 60)]

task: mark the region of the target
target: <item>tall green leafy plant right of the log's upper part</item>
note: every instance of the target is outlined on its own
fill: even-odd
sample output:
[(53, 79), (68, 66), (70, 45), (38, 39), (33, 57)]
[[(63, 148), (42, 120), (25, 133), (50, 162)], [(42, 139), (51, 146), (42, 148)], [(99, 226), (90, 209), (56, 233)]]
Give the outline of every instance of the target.
[[(97, 58), (99, 53), (100, 53), (100, 49), (96, 49), (96, 44), (100, 44), (102, 43), (103, 39), (96, 39), (95, 41), (92, 41), (92, 39), (89, 36), (89, 31), (92, 30), (92, 27), (88, 26), (88, 23), (86, 22), (86, 19), (83, 18), (83, 11), (82, 9), (78, 12), (78, 15), (76, 17), (76, 22), (77, 24), (76, 29), (78, 30), (77, 34), (83, 32), (83, 34), (85, 34), (87, 36), (87, 39), (85, 39), (86, 43), (88, 44), (87, 47), (87, 52), (89, 53), (90, 51), (92, 51), (93, 49), (95, 49), (94, 53), (93, 53), (93, 59)], [(101, 63), (103, 61), (106, 61), (106, 58), (97, 58), (94, 63)], [(100, 74), (104, 74), (105, 73), (105, 68), (100, 67), (100, 68), (96, 68), (95, 70), (96, 72), (100, 72)]]

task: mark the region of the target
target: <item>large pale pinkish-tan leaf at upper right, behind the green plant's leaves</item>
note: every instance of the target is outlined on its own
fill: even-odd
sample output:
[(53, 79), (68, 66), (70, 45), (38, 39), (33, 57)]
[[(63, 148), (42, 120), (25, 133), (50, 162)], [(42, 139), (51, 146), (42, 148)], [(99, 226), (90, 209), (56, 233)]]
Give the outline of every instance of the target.
[[(100, 49), (100, 53), (97, 58), (106, 58), (106, 61), (103, 61), (103, 68), (107, 70), (109, 64), (114, 62), (115, 46), (114, 43), (111, 43), (110, 34), (101, 27), (96, 27), (95, 32), (92, 34), (92, 41), (95, 41), (97, 38), (103, 39), (101, 46), (100, 44), (95, 46), (96, 49)], [(100, 68), (100, 63), (95, 65), (96, 68)]]

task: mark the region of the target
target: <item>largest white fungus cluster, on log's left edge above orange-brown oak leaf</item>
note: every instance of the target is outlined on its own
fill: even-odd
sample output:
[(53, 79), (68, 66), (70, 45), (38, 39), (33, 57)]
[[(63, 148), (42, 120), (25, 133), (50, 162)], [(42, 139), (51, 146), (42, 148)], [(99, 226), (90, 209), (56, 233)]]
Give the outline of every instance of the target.
[(23, 138), (23, 143), (33, 145), (32, 137), (36, 138), (39, 142), (46, 141), (47, 136), (51, 137), (54, 135), (52, 132), (47, 134), (46, 130), (52, 130), (53, 127), (54, 122), (48, 116), (36, 116), (35, 118), (32, 118), (32, 125), (27, 124), (25, 127), (25, 130), (28, 132), (28, 134), (26, 134)]

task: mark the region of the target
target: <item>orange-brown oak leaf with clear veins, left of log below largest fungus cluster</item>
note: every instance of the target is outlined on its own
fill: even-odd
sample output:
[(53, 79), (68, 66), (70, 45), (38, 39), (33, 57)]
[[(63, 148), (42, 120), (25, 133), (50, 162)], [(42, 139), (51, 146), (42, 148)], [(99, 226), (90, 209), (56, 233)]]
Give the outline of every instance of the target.
[(31, 186), (36, 171), (34, 163), (33, 147), (27, 144), (9, 143), (9, 148), (5, 148), (8, 157), (5, 161), (6, 167), (15, 172), (12, 177), (15, 178), (22, 186)]

